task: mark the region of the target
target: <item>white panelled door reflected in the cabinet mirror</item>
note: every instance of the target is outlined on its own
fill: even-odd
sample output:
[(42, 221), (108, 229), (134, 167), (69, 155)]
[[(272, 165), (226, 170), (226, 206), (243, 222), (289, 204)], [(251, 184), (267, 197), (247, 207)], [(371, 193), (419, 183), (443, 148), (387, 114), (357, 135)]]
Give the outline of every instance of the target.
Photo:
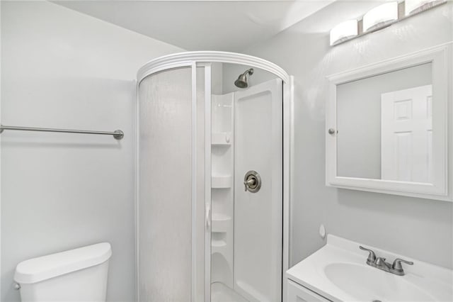
[(432, 182), (432, 85), (381, 94), (381, 176)]

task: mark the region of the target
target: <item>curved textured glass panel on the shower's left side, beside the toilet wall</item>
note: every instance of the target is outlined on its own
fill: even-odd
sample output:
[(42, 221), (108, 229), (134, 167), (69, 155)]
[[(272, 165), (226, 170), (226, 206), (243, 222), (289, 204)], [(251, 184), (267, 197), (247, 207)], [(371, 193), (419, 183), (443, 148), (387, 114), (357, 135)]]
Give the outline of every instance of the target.
[(139, 86), (139, 301), (190, 301), (191, 69)]

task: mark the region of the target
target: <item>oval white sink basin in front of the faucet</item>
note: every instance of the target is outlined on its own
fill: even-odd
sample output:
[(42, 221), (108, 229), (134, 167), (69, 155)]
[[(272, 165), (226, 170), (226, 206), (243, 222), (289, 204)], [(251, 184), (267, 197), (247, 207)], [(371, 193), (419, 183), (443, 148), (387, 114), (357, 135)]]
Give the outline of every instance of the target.
[(357, 301), (436, 301), (403, 277), (363, 264), (332, 263), (324, 267), (324, 273)]

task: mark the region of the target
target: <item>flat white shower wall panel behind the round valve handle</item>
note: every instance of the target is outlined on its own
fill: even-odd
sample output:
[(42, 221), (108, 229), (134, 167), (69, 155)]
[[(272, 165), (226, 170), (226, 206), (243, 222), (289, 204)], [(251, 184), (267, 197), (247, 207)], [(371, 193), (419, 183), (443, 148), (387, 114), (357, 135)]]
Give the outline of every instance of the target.
[[(281, 301), (282, 81), (237, 91), (234, 150), (234, 290), (248, 301)], [(258, 192), (244, 175), (260, 174)]]

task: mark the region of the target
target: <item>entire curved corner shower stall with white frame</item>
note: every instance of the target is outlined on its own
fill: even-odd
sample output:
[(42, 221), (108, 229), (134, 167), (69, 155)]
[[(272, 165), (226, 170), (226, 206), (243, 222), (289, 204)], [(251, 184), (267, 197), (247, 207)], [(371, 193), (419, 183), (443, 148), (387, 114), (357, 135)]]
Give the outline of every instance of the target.
[(282, 301), (291, 107), (292, 77), (258, 57), (139, 70), (138, 301)]

